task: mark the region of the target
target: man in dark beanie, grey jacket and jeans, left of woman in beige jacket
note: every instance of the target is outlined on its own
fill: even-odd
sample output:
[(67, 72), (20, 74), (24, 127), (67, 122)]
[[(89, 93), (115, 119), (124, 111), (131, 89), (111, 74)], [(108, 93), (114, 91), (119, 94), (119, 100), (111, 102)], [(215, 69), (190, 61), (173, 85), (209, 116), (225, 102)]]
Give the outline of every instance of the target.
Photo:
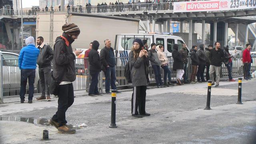
[(160, 71), (161, 61), (156, 51), (156, 44), (154, 43), (151, 44), (151, 49), (148, 50), (148, 58), (154, 70), (157, 88), (161, 88), (161, 86), (163, 85), (162, 78), (161, 78), (161, 71)]

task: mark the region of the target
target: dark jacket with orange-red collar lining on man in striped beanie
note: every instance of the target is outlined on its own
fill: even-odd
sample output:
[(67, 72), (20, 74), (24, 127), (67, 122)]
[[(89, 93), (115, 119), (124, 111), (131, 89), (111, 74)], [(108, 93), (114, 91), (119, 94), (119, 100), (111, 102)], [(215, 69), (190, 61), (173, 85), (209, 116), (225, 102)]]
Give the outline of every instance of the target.
[[(76, 56), (72, 50), (72, 40), (65, 33), (62, 34), (65, 39), (58, 36), (54, 45), (53, 56), (53, 77), (60, 82), (73, 82), (76, 80), (75, 60)], [(68, 45), (67, 45), (68, 44)]]

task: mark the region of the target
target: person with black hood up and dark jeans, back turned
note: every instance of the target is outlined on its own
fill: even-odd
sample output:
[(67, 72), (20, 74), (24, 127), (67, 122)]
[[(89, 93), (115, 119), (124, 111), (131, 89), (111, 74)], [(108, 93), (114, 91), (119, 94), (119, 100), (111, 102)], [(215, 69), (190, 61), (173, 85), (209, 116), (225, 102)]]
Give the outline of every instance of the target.
[(98, 77), (100, 72), (100, 55), (98, 52), (99, 46), (99, 42), (97, 40), (94, 40), (92, 42), (92, 49), (89, 52), (89, 70), (92, 79), (90, 83), (88, 96), (102, 95), (98, 91)]

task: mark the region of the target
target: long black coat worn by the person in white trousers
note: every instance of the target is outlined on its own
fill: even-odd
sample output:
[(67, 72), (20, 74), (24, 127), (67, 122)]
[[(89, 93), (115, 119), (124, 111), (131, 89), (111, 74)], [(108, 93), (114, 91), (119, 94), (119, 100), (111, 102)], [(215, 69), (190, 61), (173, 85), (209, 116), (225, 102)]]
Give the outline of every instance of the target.
[(178, 52), (178, 44), (173, 45), (172, 58), (174, 60), (172, 69), (183, 70), (183, 62), (182, 62), (181, 54)]

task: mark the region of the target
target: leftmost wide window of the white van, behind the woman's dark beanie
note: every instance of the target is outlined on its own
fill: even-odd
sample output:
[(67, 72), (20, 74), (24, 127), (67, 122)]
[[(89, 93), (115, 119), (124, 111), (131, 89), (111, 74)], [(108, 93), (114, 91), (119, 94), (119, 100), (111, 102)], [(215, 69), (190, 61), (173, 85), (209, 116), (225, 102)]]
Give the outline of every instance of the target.
[[(144, 36), (135, 36), (135, 38), (139, 38), (141, 40), (147, 40), (147, 44), (150, 47), (150, 38), (144, 38)], [(132, 42), (134, 40), (134, 36), (125, 36), (121, 38), (121, 46), (124, 50), (132, 50)]]

